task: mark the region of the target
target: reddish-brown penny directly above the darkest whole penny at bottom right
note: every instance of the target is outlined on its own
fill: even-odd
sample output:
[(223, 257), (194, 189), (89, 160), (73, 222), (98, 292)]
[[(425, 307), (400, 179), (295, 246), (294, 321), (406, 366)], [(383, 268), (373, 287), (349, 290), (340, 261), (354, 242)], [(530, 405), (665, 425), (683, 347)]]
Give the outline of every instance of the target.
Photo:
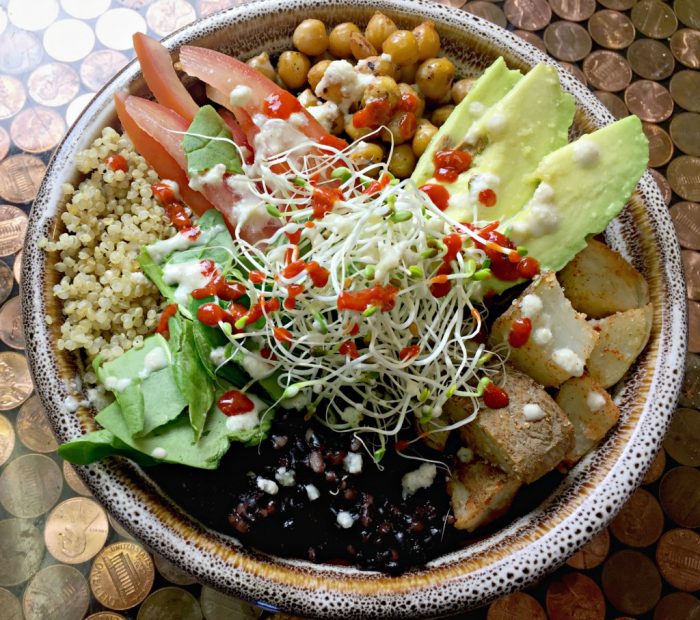
[(664, 531), (664, 513), (656, 498), (637, 489), (610, 523), (610, 531), (628, 547), (648, 547)]

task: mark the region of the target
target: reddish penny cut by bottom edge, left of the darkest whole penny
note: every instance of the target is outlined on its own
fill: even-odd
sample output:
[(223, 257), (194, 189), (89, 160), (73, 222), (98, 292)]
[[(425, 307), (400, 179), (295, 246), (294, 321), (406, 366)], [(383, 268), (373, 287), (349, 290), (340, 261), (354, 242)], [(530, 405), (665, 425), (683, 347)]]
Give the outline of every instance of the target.
[(595, 581), (581, 573), (569, 573), (553, 581), (547, 589), (546, 602), (551, 620), (605, 618), (603, 593)]

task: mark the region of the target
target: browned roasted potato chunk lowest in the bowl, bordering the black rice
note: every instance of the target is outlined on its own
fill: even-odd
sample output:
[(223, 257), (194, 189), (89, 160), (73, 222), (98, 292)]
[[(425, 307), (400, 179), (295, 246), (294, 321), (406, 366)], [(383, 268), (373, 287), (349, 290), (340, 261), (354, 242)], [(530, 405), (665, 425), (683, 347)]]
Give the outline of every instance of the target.
[(447, 481), (455, 527), (474, 531), (510, 507), (522, 482), (480, 460), (460, 465)]

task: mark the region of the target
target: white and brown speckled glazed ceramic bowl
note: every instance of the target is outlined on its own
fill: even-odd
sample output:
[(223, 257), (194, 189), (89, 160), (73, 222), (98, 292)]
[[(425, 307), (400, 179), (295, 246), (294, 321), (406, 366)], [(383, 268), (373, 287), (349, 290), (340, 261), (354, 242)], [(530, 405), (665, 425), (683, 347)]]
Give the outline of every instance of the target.
[[(317, 17), (328, 25), (364, 24), (376, 10), (409, 28), (434, 21), (445, 53), (465, 76), (480, 73), (498, 56), (523, 71), (540, 61), (556, 65), (498, 26), (423, 0), (264, 0), (195, 22), (169, 36), (165, 45), (174, 56), (183, 44), (243, 58), (262, 50), (272, 54), (290, 47), (294, 27), (304, 18)], [(563, 69), (559, 73), (576, 98), (574, 135), (613, 121), (584, 85)], [(61, 184), (78, 179), (76, 153), (105, 125), (116, 126), (112, 96), (120, 90), (146, 92), (136, 62), (97, 94), (57, 149), (32, 209), (24, 251), (27, 354), (37, 392), (61, 441), (93, 430), (94, 412), (66, 407), (69, 396), (78, 401), (83, 396), (75, 360), (55, 344), (61, 305), (51, 289), (58, 276), (52, 269), (55, 259), (39, 249), (39, 241), (60, 234)], [(153, 551), (203, 583), (270, 608), (327, 618), (425, 618), (476, 607), (522, 588), (564, 562), (622, 507), (659, 448), (680, 388), (686, 350), (680, 252), (667, 208), (648, 173), (608, 227), (606, 240), (644, 274), (654, 304), (649, 345), (615, 390), (620, 423), (534, 509), (512, 515), (502, 529), (414, 572), (391, 577), (257, 553), (198, 523), (176, 497), (159, 489), (148, 470), (127, 460), (112, 458), (78, 471), (109, 512)], [(47, 315), (53, 318), (51, 325)]]

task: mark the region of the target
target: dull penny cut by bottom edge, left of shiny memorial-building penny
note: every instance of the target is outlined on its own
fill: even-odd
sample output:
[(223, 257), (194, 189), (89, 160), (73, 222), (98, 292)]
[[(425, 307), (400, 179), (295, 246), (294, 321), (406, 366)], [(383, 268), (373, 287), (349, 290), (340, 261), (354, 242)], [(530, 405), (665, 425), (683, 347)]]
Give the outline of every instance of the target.
[(82, 620), (90, 604), (90, 590), (79, 570), (54, 564), (40, 570), (22, 597), (26, 620)]

